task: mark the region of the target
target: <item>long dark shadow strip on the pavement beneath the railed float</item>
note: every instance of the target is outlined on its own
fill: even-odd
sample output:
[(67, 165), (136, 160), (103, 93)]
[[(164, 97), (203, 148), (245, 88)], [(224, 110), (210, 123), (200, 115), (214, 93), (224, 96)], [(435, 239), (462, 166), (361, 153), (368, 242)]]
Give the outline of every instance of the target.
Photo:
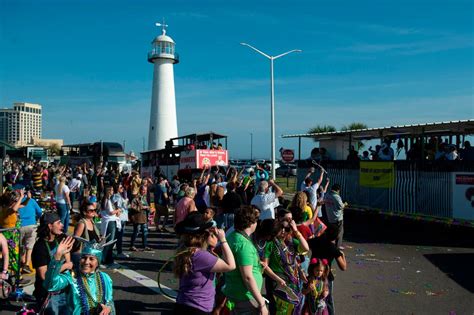
[(474, 229), (378, 213), (347, 210), (344, 239), (355, 243), (474, 248)]

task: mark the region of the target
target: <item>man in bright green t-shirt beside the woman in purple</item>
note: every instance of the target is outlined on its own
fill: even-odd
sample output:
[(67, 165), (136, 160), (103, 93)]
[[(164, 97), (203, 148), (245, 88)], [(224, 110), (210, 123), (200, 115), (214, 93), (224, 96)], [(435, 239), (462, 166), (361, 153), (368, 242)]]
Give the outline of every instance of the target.
[(231, 314), (268, 314), (266, 300), (260, 293), (262, 266), (257, 249), (250, 239), (257, 228), (257, 220), (257, 212), (252, 207), (242, 207), (235, 215), (235, 231), (227, 237), (237, 266), (225, 274), (222, 289), (233, 305)]

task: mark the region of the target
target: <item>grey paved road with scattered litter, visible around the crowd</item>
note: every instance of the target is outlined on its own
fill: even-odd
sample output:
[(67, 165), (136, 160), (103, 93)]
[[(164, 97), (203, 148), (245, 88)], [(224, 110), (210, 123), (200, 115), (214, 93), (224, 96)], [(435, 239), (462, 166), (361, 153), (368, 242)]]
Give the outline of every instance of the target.
[[(472, 243), (460, 246), (460, 235), (443, 229), (442, 235), (434, 235), (436, 231), (419, 224), (358, 213), (347, 214), (345, 226), (348, 270), (336, 270), (338, 314), (474, 314)], [(152, 231), (150, 245), (154, 251), (131, 253), (117, 261), (123, 268), (107, 270), (114, 280), (118, 314), (171, 314), (173, 302), (155, 281), (173, 254), (176, 238)], [(170, 268), (160, 283), (175, 295), (177, 281)], [(15, 309), (3, 306), (2, 314)]]

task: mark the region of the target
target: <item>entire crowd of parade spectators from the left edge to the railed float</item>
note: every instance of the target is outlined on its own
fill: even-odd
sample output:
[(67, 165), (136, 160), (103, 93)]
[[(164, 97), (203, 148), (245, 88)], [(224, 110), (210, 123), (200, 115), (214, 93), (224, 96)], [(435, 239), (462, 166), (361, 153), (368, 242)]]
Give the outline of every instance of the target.
[(112, 280), (99, 270), (128, 257), (126, 225), (128, 252), (152, 250), (150, 225), (159, 232), (173, 226), (176, 314), (335, 313), (331, 266), (346, 269), (347, 204), (338, 184), (329, 190), (323, 170), (315, 178), (311, 169), (292, 200), (260, 165), (245, 176), (207, 168), (188, 181), (90, 164), (25, 161), (4, 170), (1, 277), (21, 284), (35, 269), (44, 314), (115, 313)]

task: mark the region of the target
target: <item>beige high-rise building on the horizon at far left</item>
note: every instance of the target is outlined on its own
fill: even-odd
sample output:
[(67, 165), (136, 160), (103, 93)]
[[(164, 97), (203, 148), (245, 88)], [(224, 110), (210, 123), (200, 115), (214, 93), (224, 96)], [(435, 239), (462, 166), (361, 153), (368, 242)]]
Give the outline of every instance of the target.
[(41, 133), (41, 105), (14, 103), (13, 108), (0, 109), (0, 140), (24, 146), (41, 139)]

